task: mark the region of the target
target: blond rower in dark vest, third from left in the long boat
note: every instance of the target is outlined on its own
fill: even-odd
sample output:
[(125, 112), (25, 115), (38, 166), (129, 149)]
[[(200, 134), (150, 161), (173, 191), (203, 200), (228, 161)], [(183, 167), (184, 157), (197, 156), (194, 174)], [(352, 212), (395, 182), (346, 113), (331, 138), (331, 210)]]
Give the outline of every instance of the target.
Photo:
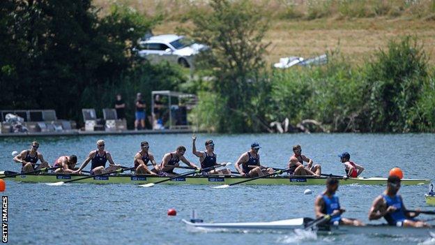
[[(116, 165), (114, 161), (112, 160), (112, 156), (109, 154), (109, 151), (105, 151), (105, 141), (104, 140), (98, 140), (97, 141), (97, 149), (96, 151), (91, 151), (88, 154), (88, 157), (80, 168), (78, 170), (75, 170), (73, 173), (79, 173), (88, 165), (88, 163), (92, 161), (91, 163), (91, 175), (100, 175), (104, 174), (105, 172), (112, 172), (120, 167), (120, 165)], [(109, 167), (106, 168), (106, 163), (109, 161)]]

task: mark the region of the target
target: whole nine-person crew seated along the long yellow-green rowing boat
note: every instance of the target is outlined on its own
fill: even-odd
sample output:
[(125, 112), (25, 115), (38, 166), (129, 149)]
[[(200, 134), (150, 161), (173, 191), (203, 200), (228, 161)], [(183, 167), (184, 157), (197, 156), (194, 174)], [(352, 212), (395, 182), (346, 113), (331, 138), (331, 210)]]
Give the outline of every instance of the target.
[[(207, 140), (205, 142), (205, 151), (197, 151), (195, 142), (197, 136), (192, 136), (192, 154), (199, 158), (201, 168), (210, 168), (217, 164), (217, 154), (215, 154), (215, 144), (213, 140)], [(32, 142), (32, 147), (29, 150), (24, 150), (21, 154), (14, 157), (14, 161), (22, 163), (22, 172), (30, 172), (38, 170), (40, 168), (49, 167), (48, 163), (44, 160), (43, 155), (38, 152), (39, 143)], [(235, 168), (242, 177), (257, 177), (263, 175), (273, 174), (275, 169), (268, 168), (260, 163), (259, 149), (261, 149), (259, 143), (254, 142), (251, 144), (250, 151), (243, 153), (236, 161)], [(149, 150), (148, 142), (141, 142), (141, 150), (135, 154), (134, 165), (136, 175), (159, 175), (165, 177), (174, 177), (178, 175), (174, 172), (174, 168), (179, 168), (179, 162), (182, 161), (188, 168), (198, 170), (199, 168), (194, 163), (188, 161), (184, 154), (186, 148), (179, 146), (175, 151), (165, 154), (162, 158), (162, 162), (157, 164), (155, 158)], [(350, 161), (350, 154), (344, 152), (339, 155), (340, 161), (344, 164), (346, 177), (358, 177), (364, 168), (356, 163)], [(38, 160), (41, 162), (39, 166), (36, 165)], [(106, 163), (109, 161), (109, 167), (106, 168)], [(55, 172), (71, 172), (81, 173), (81, 171), (91, 162), (91, 175), (103, 174), (105, 172), (112, 172), (117, 168), (121, 168), (121, 165), (117, 165), (112, 160), (112, 156), (108, 151), (105, 151), (104, 140), (97, 141), (97, 149), (90, 151), (86, 160), (80, 165), (78, 169), (75, 168), (77, 163), (77, 156), (61, 156), (56, 159), (54, 167), (61, 167), (56, 169)], [(153, 168), (148, 169), (148, 163), (153, 165)], [(307, 165), (303, 163), (306, 162)], [(125, 167), (123, 167), (125, 168)], [(289, 175), (313, 175), (319, 177), (321, 175), (321, 165), (313, 165), (311, 158), (302, 154), (302, 147), (299, 144), (293, 146), (293, 155), (289, 159), (288, 163)], [(203, 175), (231, 175), (231, 170), (209, 170), (208, 172), (202, 172)]]

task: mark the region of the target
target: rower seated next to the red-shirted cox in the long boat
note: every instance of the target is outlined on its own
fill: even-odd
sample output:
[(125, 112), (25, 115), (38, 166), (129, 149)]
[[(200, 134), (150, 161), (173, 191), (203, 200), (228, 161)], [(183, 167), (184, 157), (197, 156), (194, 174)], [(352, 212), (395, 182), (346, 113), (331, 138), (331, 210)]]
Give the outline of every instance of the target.
[[(299, 144), (293, 146), (293, 155), (290, 157), (288, 165), (289, 175), (314, 175), (319, 177), (321, 175), (321, 165), (316, 164), (313, 166), (312, 159), (301, 153), (302, 147)], [(306, 167), (303, 165), (304, 161), (308, 163)]]

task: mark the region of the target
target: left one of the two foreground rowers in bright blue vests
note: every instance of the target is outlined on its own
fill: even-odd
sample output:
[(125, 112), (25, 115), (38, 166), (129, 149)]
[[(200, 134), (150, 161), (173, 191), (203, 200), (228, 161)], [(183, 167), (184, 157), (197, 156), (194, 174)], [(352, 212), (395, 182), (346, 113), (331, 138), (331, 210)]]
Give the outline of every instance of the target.
[(338, 184), (339, 181), (336, 178), (326, 179), (326, 190), (323, 194), (317, 196), (314, 201), (314, 212), (316, 213), (316, 218), (330, 215), (332, 218), (329, 223), (333, 225), (365, 225), (358, 219), (342, 217), (342, 214), (346, 210), (340, 207), (338, 197), (335, 195)]

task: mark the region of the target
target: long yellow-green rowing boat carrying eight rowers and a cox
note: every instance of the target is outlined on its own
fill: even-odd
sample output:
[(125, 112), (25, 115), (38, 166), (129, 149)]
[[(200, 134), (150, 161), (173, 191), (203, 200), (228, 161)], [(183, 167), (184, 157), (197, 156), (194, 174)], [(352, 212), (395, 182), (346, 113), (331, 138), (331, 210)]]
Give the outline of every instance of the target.
[[(5, 175), (13, 175), (17, 172), (0, 171), (0, 177)], [(6, 179), (22, 182), (57, 182), (70, 179), (78, 179), (86, 175), (73, 175), (64, 173), (47, 173), (47, 174), (27, 174), (18, 175), (16, 177), (8, 177)], [(156, 177), (153, 175), (115, 175), (115, 176), (100, 176), (89, 179), (82, 179), (77, 183), (89, 183), (89, 184), (148, 184), (160, 181), (163, 179), (169, 179), (169, 177)], [(165, 184), (207, 184), (207, 185), (222, 185), (233, 184), (238, 181), (248, 179), (247, 177), (240, 176), (186, 176), (171, 179), (166, 181)], [(247, 181), (244, 184), (254, 185), (324, 185), (327, 177), (312, 177), (312, 176), (278, 176), (278, 177), (265, 177)], [(385, 185), (386, 178), (349, 178), (340, 180), (340, 184), (363, 184), (363, 185)], [(402, 185), (420, 185), (428, 184), (429, 179), (402, 179)]]

